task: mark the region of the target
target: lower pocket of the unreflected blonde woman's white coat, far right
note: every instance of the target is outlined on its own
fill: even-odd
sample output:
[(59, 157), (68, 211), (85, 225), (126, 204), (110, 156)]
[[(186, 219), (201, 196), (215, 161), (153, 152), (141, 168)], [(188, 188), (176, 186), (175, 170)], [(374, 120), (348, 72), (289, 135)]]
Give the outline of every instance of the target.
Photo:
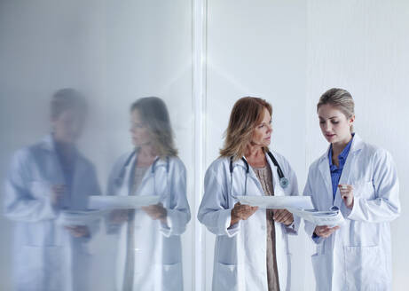
[(384, 254), (379, 246), (344, 247), (347, 290), (388, 290)]

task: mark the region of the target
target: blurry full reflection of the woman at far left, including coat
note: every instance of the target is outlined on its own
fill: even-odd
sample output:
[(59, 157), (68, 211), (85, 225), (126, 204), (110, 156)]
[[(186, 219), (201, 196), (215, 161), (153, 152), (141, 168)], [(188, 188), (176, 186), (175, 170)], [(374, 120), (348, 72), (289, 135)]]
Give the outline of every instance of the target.
[(83, 210), (87, 196), (99, 193), (93, 165), (75, 148), (86, 116), (75, 90), (51, 99), (52, 134), (12, 159), (4, 212), (16, 222), (18, 290), (85, 290), (87, 225), (57, 223), (64, 209)]

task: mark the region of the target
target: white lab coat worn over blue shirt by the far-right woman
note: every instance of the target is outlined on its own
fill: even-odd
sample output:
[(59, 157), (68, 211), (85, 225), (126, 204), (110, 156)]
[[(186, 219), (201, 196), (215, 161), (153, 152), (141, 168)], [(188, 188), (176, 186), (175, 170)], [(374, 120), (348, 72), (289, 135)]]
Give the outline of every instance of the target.
[[(346, 218), (329, 238), (315, 238), (311, 257), (318, 290), (390, 290), (389, 222), (400, 212), (397, 170), (388, 152), (362, 141), (356, 134), (342, 169), (340, 184), (353, 185), (354, 206), (346, 208), (339, 190), (333, 202), (328, 152), (311, 167), (304, 195), (314, 207), (341, 208)], [(315, 225), (305, 222), (311, 237)]]

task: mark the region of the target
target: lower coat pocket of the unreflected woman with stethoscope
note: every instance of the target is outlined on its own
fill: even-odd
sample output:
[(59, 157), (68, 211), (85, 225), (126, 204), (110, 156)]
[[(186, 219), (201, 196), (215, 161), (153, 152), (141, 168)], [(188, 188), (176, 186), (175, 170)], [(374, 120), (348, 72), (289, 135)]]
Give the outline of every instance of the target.
[(213, 290), (239, 290), (237, 270), (237, 264), (217, 263), (213, 273)]

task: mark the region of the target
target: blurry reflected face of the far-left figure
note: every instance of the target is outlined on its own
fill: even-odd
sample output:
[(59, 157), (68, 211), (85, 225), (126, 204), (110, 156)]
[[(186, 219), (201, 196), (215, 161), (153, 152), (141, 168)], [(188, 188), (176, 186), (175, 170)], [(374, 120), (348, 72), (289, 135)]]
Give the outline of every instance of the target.
[(74, 109), (64, 110), (51, 119), (54, 138), (59, 142), (73, 144), (83, 133), (85, 114)]

